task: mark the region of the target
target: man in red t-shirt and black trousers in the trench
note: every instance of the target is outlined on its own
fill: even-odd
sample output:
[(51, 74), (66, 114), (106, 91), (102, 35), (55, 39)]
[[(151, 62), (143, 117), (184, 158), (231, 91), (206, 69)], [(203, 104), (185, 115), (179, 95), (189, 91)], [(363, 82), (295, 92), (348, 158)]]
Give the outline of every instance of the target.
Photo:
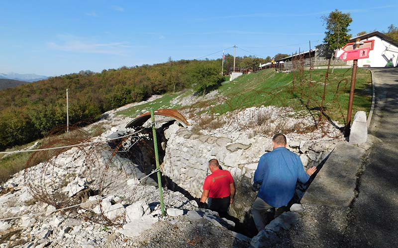
[(220, 217), (228, 215), (229, 204), (235, 196), (235, 183), (231, 173), (219, 167), (218, 160), (208, 161), (211, 174), (206, 177), (203, 184), (203, 193), (200, 202), (205, 203), (208, 198), (208, 207), (218, 212)]

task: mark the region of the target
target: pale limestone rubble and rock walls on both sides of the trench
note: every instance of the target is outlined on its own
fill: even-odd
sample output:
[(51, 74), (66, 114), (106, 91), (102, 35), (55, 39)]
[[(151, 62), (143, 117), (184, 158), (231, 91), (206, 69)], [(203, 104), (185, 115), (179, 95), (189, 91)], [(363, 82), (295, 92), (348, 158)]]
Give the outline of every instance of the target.
[[(229, 124), (201, 132), (193, 127), (170, 125), (165, 130), (167, 144), (163, 144), (164, 175), (192, 196), (200, 197), (204, 178), (209, 174), (207, 161), (217, 158), (234, 177), (237, 194), (230, 214), (242, 221), (255, 198), (251, 186), (258, 160), (264, 152), (272, 150), (271, 136), (256, 125), (265, 119), (267, 124), (276, 123), (279, 115), (273, 115), (273, 111), (275, 107), (250, 108), (233, 113), (239, 122), (224, 120)], [(270, 115), (256, 120), (258, 113)], [(231, 119), (231, 115), (222, 118)], [(285, 116), (288, 129), (307, 125), (305, 118)], [(265, 122), (260, 126), (264, 125)], [(121, 126), (110, 128), (93, 141), (134, 131)], [(275, 130), (277, 125), (271, 127)], [(340, 140), (333, 131), (326, 132), (333, 138), (322, 136), (319, 130), (287, 135), (289, 149), (300, 156), (304, 167), (319, 163)], [(148, 138), (144, 136), (138, 137)], [(124, 140), (121, 150), (134, 142), (132, 138)], [(145, 173), (148, 172), (140, 165), (104, 144), (66, 150), (31, 167), (27, 174), (15, 174), (0, 187), (0, 219), (24, 216), (0, 221), (0, 248), (165, 247), (165, 244), (167, 247), (248, 247), (250, 244), (258, 247), (264, 240), (272, 240), (278, 230), (293, 226), (298, 218), (297, 213), (285, 213), (251, 240), (231, 231), (235, 223), (219, 218), (215, 212), (199, 209), (195, 200), (167, 188), (164, 188), (167, 216), (162, 217), (156, 182), (151, 178), (146, 178), (145, 184), (144, 180), (140, 181)], [(58, 211), (76, 203), (82, 204)], [(299, 206), (295, 209), (302, 211)]]

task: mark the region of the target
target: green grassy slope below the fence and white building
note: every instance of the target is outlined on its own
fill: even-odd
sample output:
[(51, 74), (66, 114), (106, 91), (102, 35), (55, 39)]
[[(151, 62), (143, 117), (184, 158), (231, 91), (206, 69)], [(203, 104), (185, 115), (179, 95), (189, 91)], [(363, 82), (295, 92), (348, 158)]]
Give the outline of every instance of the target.
[[(253, 106), (274, 105), (289, 106), (296, 110), (310, 110), (313, 114), (319, 115), (325, 73), (326, 69), (305, 71), (301, 76), (302, 80), (299, 80), (298, 73), (295, 75), (293, 73), (277, 73), (273, 69), (245, 74), (232, 82), (224, 82), (218, 88), (219, 97), (222, 99), (197, 105), (214, 105), (210, 112), (219, 114)], [(293, 82), (294, 77), (295, 82)], [(324, 114), (340, 123), (344, 123), (347, 114), (350, 80), (351, 69), (335, 69), (327, 79)], [(190, 93), (192, 91), (187, 91), (184, 95), (187, 96)], [(178, 109), (178, 105), (170, 105), (170, 101), (177, 96), (178, 94), (165, 95), (154, 102), (132, 107), (119, 112), (119, 114), (137, 116), (141, 111), (149, 110), (151, 107), (154, 109)], [(371, 74), (368, 70), (358, 69), (353, 113), (365, 111), (368, 114), (371, 101)]]

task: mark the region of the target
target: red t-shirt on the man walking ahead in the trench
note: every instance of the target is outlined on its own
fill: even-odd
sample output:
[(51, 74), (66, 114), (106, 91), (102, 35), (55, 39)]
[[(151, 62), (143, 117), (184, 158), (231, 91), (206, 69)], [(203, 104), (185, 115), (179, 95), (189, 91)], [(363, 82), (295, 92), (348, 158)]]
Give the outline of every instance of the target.
[(222, 198), (231, 194), (230, 184), (233, 183), (231, 173), (226, 170), (216, 170), (206, 177), (203, 190), (209, 190), (208, 197)]

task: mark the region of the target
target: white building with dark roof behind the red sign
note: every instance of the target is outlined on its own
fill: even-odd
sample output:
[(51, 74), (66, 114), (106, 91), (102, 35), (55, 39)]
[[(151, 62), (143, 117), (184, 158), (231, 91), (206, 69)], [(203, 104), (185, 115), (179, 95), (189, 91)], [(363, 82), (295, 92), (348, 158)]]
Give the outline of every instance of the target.
[[(368, 44), (368, 47), (373, 46), (369, 51), (369, 58), (358, 60), (359, 67), (386, 67), (386, 66), (398, 66), (398, 42), (394, 41), (390, 37), (374, 31), (358, 37), (352, 38), (349, 42), (354, 44), (355, 40), (361, 39), (361, 43)], [(344, 51), (339, 50), (337, 57), (339, 57)], [(347, 61), (348, 65), (352, 65), (353, 61)]]

